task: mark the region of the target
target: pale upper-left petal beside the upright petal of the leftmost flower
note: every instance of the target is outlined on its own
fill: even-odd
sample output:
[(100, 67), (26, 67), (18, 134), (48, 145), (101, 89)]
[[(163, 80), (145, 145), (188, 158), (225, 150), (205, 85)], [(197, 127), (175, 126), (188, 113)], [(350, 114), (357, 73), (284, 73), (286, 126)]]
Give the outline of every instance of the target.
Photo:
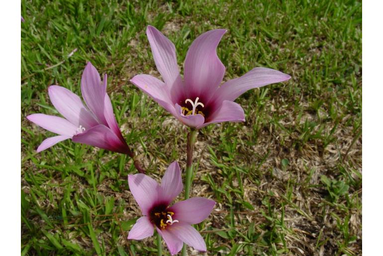
[(75, 126), (82, 125), (89, 129), (98, 124), (80, 97), (72, 91), (62, 86), (51, 85), (48, 88), (48, 94), (57, 111)]

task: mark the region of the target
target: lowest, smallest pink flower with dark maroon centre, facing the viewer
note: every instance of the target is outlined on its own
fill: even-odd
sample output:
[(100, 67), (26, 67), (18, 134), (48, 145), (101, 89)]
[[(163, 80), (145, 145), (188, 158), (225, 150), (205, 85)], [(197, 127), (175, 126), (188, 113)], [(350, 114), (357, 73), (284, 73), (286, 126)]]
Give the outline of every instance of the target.
[(153, 236), (155, 227), (172, 255), (181, 251), (183, 242), (198, 251), (206, 251), (203, 238), (191, 225), (206, 219), (215, 202), (192, 197), (169, 206), (183, 189), (177, 162), (168, 167), (161, 184), (141, 173), (129, 175), (128, 182), (144, 215), (130, 230), (128, 239), (141, 240)]

